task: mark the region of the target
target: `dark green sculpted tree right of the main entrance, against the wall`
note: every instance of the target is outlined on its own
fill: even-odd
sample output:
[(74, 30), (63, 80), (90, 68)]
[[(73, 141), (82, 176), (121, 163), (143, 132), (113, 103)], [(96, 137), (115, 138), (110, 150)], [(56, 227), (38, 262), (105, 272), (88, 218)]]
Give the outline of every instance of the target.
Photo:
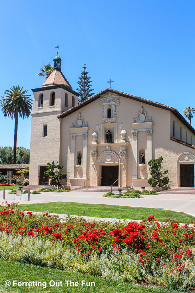
[(148, 179), (148, 183), (153, 187), (162, 187), (169, 183), (168, 177), (163, 177), (163, 175), (168, 173), (168, 170), (165, 170), (163, 173), (161, 172), (163, 158), (160, 157), (158, 159), (153, 159), (148, 162), (150, 166), (150, 175), (151, 178)]

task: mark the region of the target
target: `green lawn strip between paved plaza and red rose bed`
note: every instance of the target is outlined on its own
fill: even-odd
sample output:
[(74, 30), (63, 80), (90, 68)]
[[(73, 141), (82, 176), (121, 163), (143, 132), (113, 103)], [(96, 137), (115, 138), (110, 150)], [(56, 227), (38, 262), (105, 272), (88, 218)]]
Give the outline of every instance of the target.
[[(163, 209), (151, 209), (145, 207), (124, 207), (116, 205), (94, 205), (76, 202), (49, 202), (19, 205), (19, 208), (27, 211), (50, 212), (56, 214), (71, 214), (89, 217), (118, 218), (118, 219), (147, 219), (154, 216), (158, 221), (166, 221), (166, 218), (174, 219), (180, 223), (195, 221), (195, 217), (181, 212), (173, 212)], [(85, 213), (83, 213), (85, 211)]]

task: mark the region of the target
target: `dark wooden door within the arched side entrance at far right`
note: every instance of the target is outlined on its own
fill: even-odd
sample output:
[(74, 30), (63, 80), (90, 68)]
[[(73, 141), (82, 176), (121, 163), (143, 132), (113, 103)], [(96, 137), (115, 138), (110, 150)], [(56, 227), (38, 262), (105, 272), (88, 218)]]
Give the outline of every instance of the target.
[(194, 187), (194, 165), (180, 165), (181, 187)]

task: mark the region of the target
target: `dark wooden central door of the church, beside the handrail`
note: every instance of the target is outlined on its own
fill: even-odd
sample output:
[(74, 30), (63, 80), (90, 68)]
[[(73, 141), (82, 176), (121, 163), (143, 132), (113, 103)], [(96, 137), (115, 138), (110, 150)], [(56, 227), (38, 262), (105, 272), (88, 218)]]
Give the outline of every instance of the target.
[[(101, 166), (101, 186), (111, 186), (117, 179), (118, 166)], [(118, 186), (118, 181), (115, 186)]]

